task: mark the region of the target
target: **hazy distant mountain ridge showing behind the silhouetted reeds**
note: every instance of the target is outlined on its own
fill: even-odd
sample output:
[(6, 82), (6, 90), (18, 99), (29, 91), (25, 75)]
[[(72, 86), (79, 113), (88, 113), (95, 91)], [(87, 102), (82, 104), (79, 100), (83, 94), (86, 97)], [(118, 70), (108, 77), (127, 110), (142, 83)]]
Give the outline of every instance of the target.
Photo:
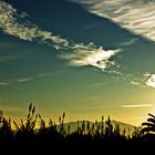
[[(83, 121), (64, 123), (64, 128), (68, 128), (68, 126), (70, 125), (70, 132), (72, 133), (78, 130), (78, 126), (82, 127), (82, 123), (83, 123)], [(87, 123), (90, 123), (90, 127), (92, 127), (92, 125), (94, 124), (93, 122), (84, 121), (85, 126), (87, 125)], [(97, 122), (97, 123), (101, 125), (102, 122)], [(123, 122), (117, 122), (114, 120), (111, 121), (111, 124), (113, 126), (118, 124), (122, 132), (123, 132), (123, 130), (125, 130), (126, 135), (131, 135), (134, 132), (134, 130), (136, 128), (136, 126), (134, 126), (134, 125), (123, 123)], [(104, 123), (104, 126), (106, 126), (106, 123)]]

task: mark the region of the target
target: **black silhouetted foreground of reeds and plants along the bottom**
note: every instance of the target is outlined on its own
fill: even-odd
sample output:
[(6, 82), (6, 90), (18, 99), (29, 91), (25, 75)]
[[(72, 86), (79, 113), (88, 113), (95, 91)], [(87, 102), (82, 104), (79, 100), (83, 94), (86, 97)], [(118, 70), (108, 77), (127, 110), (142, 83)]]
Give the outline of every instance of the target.
[[(59, 118), (59, 124), (52, 120), (46, 125), (43, 118), (35, 114), (35, 106), (30, 104), (25, 120), (19, 124), (13, 122), (12, 128), (10, 118), (6, 118), (0, 113), (0, 151), (11, 154), (117, 154), (153, 151), (155, 147), (155, 116), (149, 114), (144, 127), (135, 128), (132, 135), (126, 135), (125, 130), (121, 130), (117, 124), (112, 125), (111, 118), (90, 124), (83, 122), (78, 125), (74, 132), (70, 131), (70, 125), (64, 126), (65, 113)], [(35, 124), (39, 120), (40, 127)], [(49, 153), (46, 153), (49, 152)]]

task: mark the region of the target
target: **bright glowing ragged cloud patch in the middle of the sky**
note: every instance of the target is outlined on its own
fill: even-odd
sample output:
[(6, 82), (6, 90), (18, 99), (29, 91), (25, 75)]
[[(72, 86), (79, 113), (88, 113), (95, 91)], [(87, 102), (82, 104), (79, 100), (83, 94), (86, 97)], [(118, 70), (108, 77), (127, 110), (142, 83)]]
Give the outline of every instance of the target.
[(115, 65), (114, 61), (110, 61), (120, 50), (105, 51), (102, 46), (96, 48), (92, 43), (89, 45), (75, 44), (73, 53), (62, 54), (61, 58), (70, 61), (74, 66), (95, 66), (101, 70), (105, 70), (111, 65)]

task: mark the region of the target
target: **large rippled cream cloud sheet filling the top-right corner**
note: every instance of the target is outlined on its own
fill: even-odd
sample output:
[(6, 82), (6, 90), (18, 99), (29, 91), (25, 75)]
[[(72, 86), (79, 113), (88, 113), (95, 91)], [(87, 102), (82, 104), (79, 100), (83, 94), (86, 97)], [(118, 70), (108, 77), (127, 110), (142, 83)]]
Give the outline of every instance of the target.
[(71, 0), (91, 13), (107, 18), (151, 41), (155, 41), (155, 1), (153, 0)]

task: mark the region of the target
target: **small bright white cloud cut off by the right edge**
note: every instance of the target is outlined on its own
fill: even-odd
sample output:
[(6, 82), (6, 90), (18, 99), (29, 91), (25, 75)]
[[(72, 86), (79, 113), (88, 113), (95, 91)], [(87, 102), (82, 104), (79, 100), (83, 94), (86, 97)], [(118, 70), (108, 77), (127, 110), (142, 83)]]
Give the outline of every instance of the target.
[(155, 87), (155, 74), (144, 74), (145, 83), (147, 86)]

